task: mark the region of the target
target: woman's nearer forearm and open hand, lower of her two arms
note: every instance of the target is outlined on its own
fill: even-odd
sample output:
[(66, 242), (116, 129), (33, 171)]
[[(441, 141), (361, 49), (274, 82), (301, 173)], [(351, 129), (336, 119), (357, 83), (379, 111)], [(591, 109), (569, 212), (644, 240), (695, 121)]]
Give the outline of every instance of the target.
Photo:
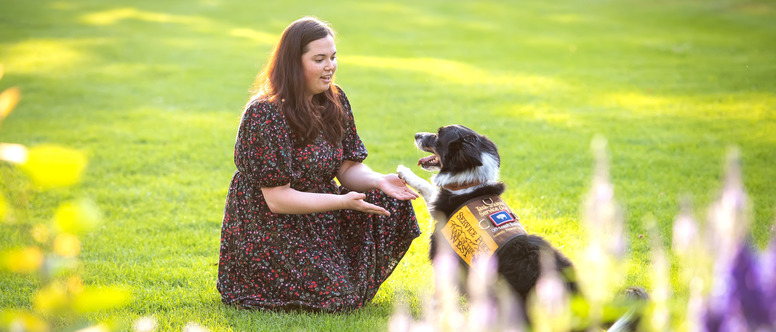
[(262, 187), (261, 192), (272, 213), (308, 214), (333, 210), (356, 210), (370, 214), (390, 215), (387, 210), (364, 201), (366, 195), (349, 192), (345, 195), (308, 193), (292, 189), (290, 184)]

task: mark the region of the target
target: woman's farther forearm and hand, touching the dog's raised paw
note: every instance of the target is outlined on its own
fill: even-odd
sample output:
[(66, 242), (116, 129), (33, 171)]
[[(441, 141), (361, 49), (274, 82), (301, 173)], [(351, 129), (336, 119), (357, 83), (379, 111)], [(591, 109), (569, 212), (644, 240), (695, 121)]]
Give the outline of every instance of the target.
[(350, 190), (365, 192), (380, 189), (389, 196), (403, 201), (418, 198), (418, 194), (408, 188), (398, 175), (377, 173), (360, 162), (343, 161), (337, 172), (337, 179)]

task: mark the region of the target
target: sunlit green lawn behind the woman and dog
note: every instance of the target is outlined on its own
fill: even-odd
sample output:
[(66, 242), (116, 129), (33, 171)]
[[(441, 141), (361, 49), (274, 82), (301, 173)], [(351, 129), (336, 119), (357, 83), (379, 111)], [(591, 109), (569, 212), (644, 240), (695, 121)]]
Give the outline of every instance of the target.
[[(377, 171), (414, 165), (417, 131), (471, 127), (499, 145), (505, 197), (529, 231), (577, 258), (590, 142), (602, 135), (626, 211), (627, 278), (649, 286), (644, 220), (654, 218), (668, 244), (682, 195), (703, 220), (738, 146), (753, 240), (774, 236), (770, 1), (0, 0), (0, 8), (0, 90), (22, 91), (0, 141), (57, 143), (89, 157), (81, 184), (29, 197), (29, 218), (46, 222), (65, 198), (94, 199), (104, 222), (82, 239), (84, 281), (134, 296), (93, 320), (128, 326), (153, 315), (165, 331), (187, 322), (383, 330), (403, 294), (418, 301), (433, 284), (423, 237), (375, 301), (350, 315), (220, 303), (221, 214), (240, 112), (272, 44), (304, 15), (339, 33), (337, 81)], [(5, 225), (0, 236), (0, 250), (29, 241)], [(28, 307), (36, 287), (0, 272), (0, 308)]]

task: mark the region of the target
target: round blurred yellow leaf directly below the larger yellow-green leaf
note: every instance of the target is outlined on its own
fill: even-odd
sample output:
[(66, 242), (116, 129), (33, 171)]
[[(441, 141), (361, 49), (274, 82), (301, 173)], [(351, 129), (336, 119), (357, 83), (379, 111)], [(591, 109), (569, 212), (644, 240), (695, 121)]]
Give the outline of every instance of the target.
[(102, 220), (100, 209), (90, 199), (62, 203), (54, 213), (54, 224), (65, 233), (81, 235), (94, 230)]

